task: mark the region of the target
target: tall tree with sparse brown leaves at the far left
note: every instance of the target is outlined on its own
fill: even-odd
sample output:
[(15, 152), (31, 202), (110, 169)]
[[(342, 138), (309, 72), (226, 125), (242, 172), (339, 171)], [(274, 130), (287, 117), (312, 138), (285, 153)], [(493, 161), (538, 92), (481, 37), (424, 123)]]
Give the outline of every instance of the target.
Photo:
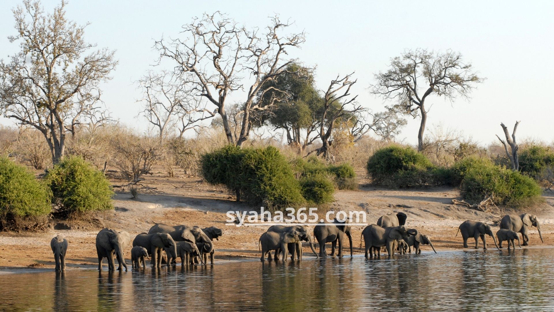
[(85, 26), (65, 17), (65, 2), (45, 14), (40, 2), (25, 0), (13, 10), (21, 51), (0, 63), (0, 106), (5, 117), (38, 129), (54, 163), (65, 153), (66, 132), (100, 112), (99, 84), (117, 62), (107, 49), (83, 54), (94, 44), (83, 39)]

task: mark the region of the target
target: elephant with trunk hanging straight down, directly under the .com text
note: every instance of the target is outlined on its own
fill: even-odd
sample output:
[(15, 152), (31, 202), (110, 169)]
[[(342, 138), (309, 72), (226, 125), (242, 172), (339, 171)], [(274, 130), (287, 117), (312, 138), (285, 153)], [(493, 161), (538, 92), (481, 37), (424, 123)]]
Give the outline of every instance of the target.
[(331, 243), (331, 256), (335, 255), (335, 245), (338, 240), (338, 256), (342, 257), (342, 246), (344, 240), (344, 234), (348, 236), (350, 242), (350, 256), (353, 256), (352, 251), (352, 233), (351, 226), (347, 221), (340, 222), (337, 219), (333, 220), (333, 223), (326, 223), (323, 225), (316, 225), (314, 227), (314, 236), (319, 244), (319, 256), (325, 258), (327, 251), (325, 250), (325, 243)]

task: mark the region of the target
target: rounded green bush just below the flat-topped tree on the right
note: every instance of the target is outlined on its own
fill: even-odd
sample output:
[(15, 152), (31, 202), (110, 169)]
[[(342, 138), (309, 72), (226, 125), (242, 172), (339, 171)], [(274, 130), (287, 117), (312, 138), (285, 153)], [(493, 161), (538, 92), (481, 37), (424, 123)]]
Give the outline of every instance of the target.
[(367, 160), (367, 173), (373, 183), (388, 187), (434, 184), (433, 169), (433, 164), (425, 155), (409, 147), (385, 147)]

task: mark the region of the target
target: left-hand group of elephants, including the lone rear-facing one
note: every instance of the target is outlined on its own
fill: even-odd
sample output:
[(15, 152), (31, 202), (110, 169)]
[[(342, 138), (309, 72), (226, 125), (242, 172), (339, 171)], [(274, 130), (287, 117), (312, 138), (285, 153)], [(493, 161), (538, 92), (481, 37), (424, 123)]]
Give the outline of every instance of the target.
[[(134, 269), (146, 268), (146, 259), (151, 259), (152, 266), (160, 267), (163, 251), (167, 255), (168, 266), (176, 264), (177, 257), (181, 258), (183, 266), (195, 263), (206, 264), (208, 254), (213, 264), (213, 240), (219, 240), (223, 230), (216, 227), (203, 228), (187, 225), (174, 227), (166, 224), (156, 224), (148, 233), (140, 233), (132, 241), (131, 265)], [(96, 235), (96, 254), (98, 255), (98, 270), (102, 270), (102, 260), (107, 259), (108, 269), (115, 270), (114, 256), (119, 263), (118, 270), (125, 268), (125, 250), (131, 243), (131, 235), (126, 231), (102, 229)], [(67, 240), (58, 235), (50, 241), (54, 253), (56, 271), (65, 270), (65, 253), (68, 248)], [(151, 257), (151, 258), (150, 258)]]

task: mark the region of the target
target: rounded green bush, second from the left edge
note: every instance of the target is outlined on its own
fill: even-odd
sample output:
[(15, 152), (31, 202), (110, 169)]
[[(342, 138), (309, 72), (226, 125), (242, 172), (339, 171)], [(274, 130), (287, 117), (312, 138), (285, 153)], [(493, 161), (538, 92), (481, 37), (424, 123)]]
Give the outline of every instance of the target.
[(83, 158), (65, 157), (49, 170), (44, 180), (52, 190), (58, 215), (114, 208), (110, 182)]

